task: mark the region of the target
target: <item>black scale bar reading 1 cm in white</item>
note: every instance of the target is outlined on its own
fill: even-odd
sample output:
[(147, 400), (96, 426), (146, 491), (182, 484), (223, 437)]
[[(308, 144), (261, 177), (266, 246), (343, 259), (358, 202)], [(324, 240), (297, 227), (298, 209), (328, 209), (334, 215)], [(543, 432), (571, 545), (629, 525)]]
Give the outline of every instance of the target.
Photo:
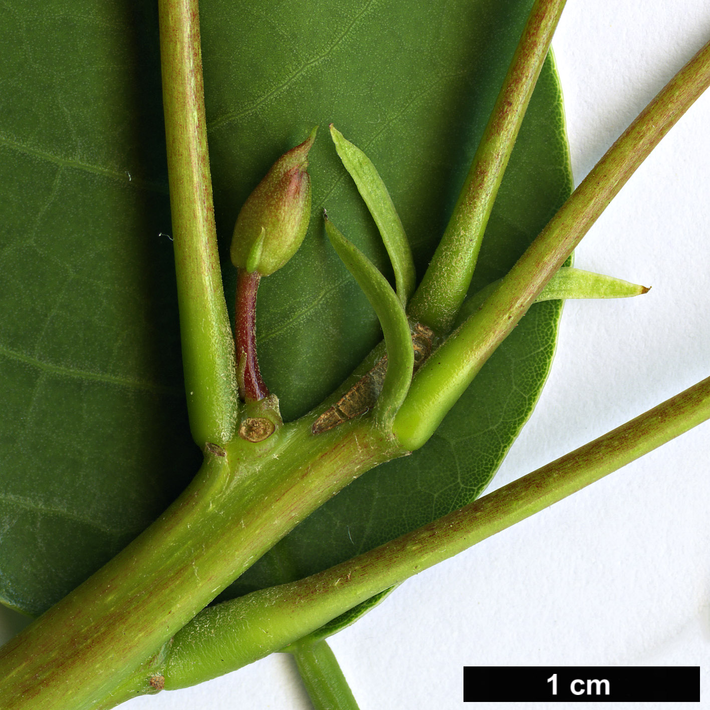
[(464, 703), (700, 702), (698, 666), (464, 666)]

